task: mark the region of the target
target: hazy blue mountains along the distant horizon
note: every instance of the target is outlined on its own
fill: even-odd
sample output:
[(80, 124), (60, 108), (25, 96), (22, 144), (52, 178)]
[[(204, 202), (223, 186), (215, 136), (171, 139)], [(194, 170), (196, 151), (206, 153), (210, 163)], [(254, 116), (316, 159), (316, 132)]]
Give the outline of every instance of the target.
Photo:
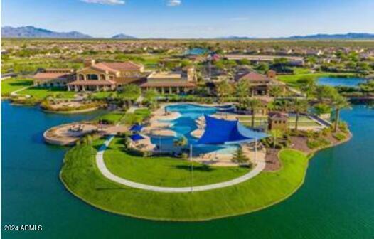
[[(87, 39), (93, 38), (90, 35), (80, 33), (78, 31), (57, 32), (34, 26), (1, 27), (1, 37), (3, 38), (71, 38), (71, 39)], [(111, 39), (137, 39), (124, 33), (112, 36)], [(248, 36), (225, 36), (216, 39), (225, 40), (254, 40), (262, 39)], [(284, 40), (328, 40), (328, 39), (374, 39), (374, 34), (370, 33), (346, 33), (346, 34), (316, 34), (307, 36), (289, 36), (267, 39), (284, 39)]]

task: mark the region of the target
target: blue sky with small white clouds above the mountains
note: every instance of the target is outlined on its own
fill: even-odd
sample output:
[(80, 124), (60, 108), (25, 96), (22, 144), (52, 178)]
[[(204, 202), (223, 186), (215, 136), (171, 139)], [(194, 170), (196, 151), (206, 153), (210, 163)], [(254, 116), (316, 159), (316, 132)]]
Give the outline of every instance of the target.
[(374, 0), (1, 0), (1, 26), (94, 37), (257, 38), (374, 33)]

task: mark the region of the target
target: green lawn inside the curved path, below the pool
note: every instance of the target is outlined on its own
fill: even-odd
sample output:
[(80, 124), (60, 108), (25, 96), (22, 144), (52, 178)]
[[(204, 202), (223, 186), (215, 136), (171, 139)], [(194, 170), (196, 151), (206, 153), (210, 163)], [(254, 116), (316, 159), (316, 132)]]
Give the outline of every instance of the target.
[[(169, 157), (144, 158), (124, 152), (121, 139), (115, 138), (105, 152), (109, 171), (124, 179), (154, 186), (190, 186), (190, 163)], [(246, 174), (240, 167), (214, 167), (194, 164), (193, 185), (214, 184)]]

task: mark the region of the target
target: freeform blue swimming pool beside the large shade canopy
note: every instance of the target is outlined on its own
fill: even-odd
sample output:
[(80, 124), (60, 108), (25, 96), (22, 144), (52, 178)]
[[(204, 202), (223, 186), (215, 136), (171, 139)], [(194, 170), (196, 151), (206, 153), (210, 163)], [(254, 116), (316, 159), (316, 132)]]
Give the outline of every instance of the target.
[(168, 112), (178, 112), (181, 114), (181, 117), (170, 121), (163, 121), (171, 123), (170, 129), (176, 132), (176, 137), (151, 137), (151, 142), (161, 147), (161, 150), (172, 151), (174, 140), (182, 136), (188, 139), (188, 145), (193, 145), (193, 156), (211, 152), (217, 152), (219, 154), (233, 154), (233, 152), (235, 152), (235, 150), (237, 149), (237, 145), (235, 144), (197, 145), (196, 142), (198, 141), (198, 139), (191, 136), (191, 132), (198, 128), (196, 126), (195, 120), (203, 115), (215, 114), (216, 112), (218, 112), (218, 108), (203, 105), (178, 104), (169, 105), (166, 107), (166, 110)]

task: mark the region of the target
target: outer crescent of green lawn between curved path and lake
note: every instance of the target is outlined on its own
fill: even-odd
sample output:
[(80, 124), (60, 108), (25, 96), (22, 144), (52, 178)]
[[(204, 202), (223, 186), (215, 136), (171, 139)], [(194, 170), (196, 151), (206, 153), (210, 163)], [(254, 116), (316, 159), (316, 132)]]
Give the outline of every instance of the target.
[[(155, 193), (122, 186), (102, 176), (95, 164), (98, 146), (99, 142), (95, 148), (80, 145), (65, 155), (60, 179), (68, 190), (105, 211), (154, 220), (202, 221), (272, 206), (301, 186), (308, 166), (303, 153), (284, 149), (279, 154), (282, 169), (262, 172), (242, 184), (196, 193)], [(149, 167), (148, 171), (152, 171)], [(165, 181), (171, 180), (168, 176), (165, 175)]]

